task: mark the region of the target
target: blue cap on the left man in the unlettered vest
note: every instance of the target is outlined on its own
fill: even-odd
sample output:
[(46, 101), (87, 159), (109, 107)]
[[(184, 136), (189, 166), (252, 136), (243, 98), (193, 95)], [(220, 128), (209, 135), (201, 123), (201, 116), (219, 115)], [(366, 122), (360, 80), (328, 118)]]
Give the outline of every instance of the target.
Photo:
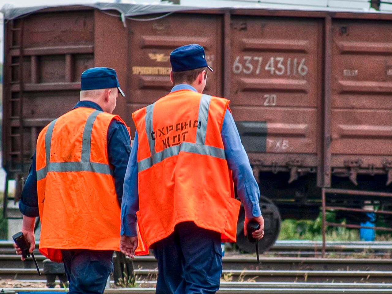
[(117, 88), (123, 97), (124, 92), (118, 83), (116, 71), (110, 67), (92, 67), (82, 73), (82, 91)]

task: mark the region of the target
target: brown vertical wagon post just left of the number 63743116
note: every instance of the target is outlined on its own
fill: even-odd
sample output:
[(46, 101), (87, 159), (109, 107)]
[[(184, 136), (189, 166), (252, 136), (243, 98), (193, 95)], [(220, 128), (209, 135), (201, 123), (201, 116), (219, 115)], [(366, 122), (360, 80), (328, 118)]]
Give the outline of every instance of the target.
[(224, 16), (224, 49), (223, 49), (223, 97), (230, 99), (230, 58), (231, 58), (231, 50), (230, 50), (230, 22), (231, 16), (230, 11), (227, 10)]

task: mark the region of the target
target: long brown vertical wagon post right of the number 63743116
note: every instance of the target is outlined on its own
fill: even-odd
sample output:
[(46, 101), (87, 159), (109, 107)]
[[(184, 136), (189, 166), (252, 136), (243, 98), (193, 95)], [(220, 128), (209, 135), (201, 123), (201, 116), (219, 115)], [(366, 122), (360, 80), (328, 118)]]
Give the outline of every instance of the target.
[(324, 160), (323, 187), (331, 187), (331, 76), (332, 76), (332, 19), (325, 18), (325, 61), (324, 61)]

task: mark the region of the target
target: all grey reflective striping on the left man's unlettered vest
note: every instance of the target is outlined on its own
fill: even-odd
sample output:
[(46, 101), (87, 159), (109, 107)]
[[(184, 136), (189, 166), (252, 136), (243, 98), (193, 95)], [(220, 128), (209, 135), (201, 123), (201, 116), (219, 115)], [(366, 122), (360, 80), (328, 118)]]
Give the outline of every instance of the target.
[(80, 162), (50, 162), (50, 149), (52, 142), (52, 133), (56, 120), (51, 122), (46, 130), (45, 134), (45, 155), (46, 165), (42, 169), (37, 171), (37, 181), (42, 180), (46, 177), (48, 172), (80, 172), (89, 171), (97, 172), (100, 174), (111, 174), (113, 171), (109, 165), (104, 163), (96, 163), (90, 161), (91, 154), (91, 132), (93, 131), (93, 124), (102, 111), (93, 111), (87, 118), (86, 124), (83, 129), (82, 136), (82, 154)]

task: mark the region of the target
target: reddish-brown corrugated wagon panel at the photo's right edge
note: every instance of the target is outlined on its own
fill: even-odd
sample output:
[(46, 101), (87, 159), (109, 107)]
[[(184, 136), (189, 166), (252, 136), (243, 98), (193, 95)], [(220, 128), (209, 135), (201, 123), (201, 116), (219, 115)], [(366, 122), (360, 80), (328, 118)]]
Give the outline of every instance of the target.
[(332, 167), (383, 168), (392, 156), (392, 25), (334, 20)]

